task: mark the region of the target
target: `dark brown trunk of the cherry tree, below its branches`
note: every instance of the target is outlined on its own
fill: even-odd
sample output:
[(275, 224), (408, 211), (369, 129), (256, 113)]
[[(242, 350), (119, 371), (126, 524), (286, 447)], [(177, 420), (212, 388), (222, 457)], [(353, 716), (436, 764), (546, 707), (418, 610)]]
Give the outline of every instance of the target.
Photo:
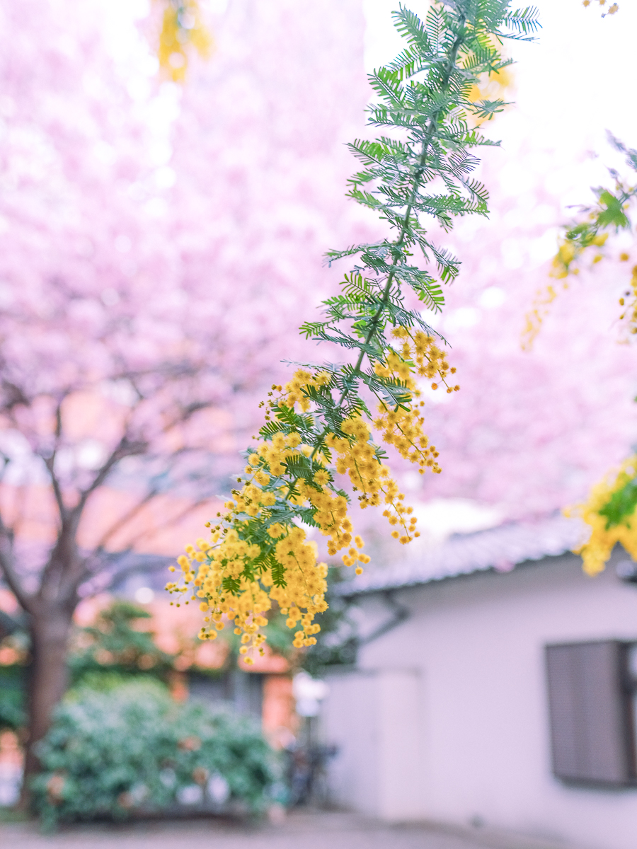
[(35, 747), (48, 732), (56, 705), (68, 686), (66, 656), (73, 611), (47, 605), (42, 615), (31, 614), (31, 665), (28, 678), (28, 739), (22, 807), (28, 805), (29, 779), (39, 764)]

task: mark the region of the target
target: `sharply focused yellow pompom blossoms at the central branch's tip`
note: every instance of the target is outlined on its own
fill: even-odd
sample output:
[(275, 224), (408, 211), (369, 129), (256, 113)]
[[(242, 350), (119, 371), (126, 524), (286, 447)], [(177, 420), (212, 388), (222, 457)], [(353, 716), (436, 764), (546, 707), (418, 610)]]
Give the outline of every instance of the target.
[[(399, 327), (393, 337), (399, 350), (389, 349), (386, 360), (375, 364), (374, 374), (381, 385), (399, 391), (401, 402), (390, 407), (379, 397), (375, 427), (383, 441), (420, 465), (420, 472), (439, 472), (436, 447), (422, 431), (417, 380), (435, 379), (434, 389), (442, 384), (448, 392), (456, 391), (459, 386), (446, 382), (455, 369), (426, 333)], [(182, 581), (166, 585), (170, 593), (189, 596), (186, 604), (200, 599), (205, 613), (201, 639), (216, 638), (233, 622), (246, 663), (253, 662), (251, 649), (263, 654), (261, 629), (273, 602), (287, 617), (288, 627), (296, 629), (296, 648), (316, 643), (320, 627), (314, 617), (327, 609), (328, 567), (318, 562), (318, 546), (307, 539), (303, 524), (316, 526), (327, 537), (330, 556), (346, 549), (342, 562), (355, 565), (357, 574), (369, 563), (363, 540), (354, 536), (347, 496), (335, 487), (335, 475), (348, 476), (361, 508), (385, 505), (390, 525), (400, 528), (392, 536), (401, 543), (419, 536), (413, 509), (403, 503), (403, 493), (381, 462), (381, 450), (362, 413), (341, 419), (337, 430), (314, 424), (318, 393), (331, 399), (332, 380), (328, 371), (300, 368), (285, 388), (273, 385), (266, 425), (256, 447), (248, 450), (244, 475), (237, 479), (242, 486), (232, 491), (217, 524), (209, 523), (211, 539), (188, 546), (178, 559)]]

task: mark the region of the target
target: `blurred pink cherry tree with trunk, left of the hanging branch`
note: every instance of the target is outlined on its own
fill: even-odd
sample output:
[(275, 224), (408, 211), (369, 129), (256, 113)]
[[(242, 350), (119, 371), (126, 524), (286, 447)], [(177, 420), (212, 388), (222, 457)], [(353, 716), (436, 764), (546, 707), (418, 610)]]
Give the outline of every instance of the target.
[[(357, 227), (328, 177), (362, 115), (361, 19), (318, 6), (213, 18), (182, 89), (127, 4), (0, 5), (0, 567), (30, 623), (27, 773), (79, 599), (205, 520), (330, 284), (318, 257)], [(291, 39), (281, 62), (308, 20), (321, 49)], [(336, 108), (335, 68), (353, 81)]]

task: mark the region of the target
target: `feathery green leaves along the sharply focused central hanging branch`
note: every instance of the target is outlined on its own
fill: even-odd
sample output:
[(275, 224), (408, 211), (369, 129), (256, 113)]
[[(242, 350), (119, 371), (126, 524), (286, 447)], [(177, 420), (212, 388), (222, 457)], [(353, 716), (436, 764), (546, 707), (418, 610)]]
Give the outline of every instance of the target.
[[(307, 339), (356, 351), (358, 358), (353, 365), (307, 365), (330, 374), (329, 385), (304, 390), (312, 416), (271, 402), (273, 418), (260, 431), (262, 438), (296, 430), (313, 447), (313, 456), (297, 454), (287, 461), (283, 477), (291, 479), (289, 493), (300, 478), (312, 480), (317, 470), (313, 458), (318, 451), (325, 453), (327, 433), (351, 440), (342, 421), (361, 411), (369, 415), (361, 387), (392, 407), (410, 401), (404, 384), (379, 377), (374, 365), (385, 361), (395, 346), (389, 338), (394, 327), (437, 335), (419, 311), (405, 304), (406, 290), (412, 290), (423, 306), (441, 311), (443, 284), (459, 273), (459, 260), (429, 238), (427, 225), (449, 230), (456, 216), (488, 215), (487, 189), (471, 177), (478, 164), (473, 151), (499, 142), (471, 128), (470, 121), (493, 117), (505, 103), (472, 101), (471, 91), (480, 76), (511, 64), (499, 51), (502, 39), (526, 40), (538, 28), (534, 8), (512, 11), (509, 6), (508, 0), (450, 0), (433, 4), (424, 21), (402, 5), (393, 13), (397, 31), (408, 43), (397, 59), (369, 76), (377, 95), (369, 123), (383, 132), (400, 132), (402, 138), (383, 134), (349, 145), (363, 168), (351, 177), (348, 193), (378, 212), (391, 233), (375, 243), (327, 254), (330, 263), (350, 256), (357, 261), (344, 275), (341, 294), (324, 301), (324, 319), (302, 324), (301, 332)], [(412, 260), (415, 250), (425, 267)], [(375, 453), (379, 460), (386, 456), (378, 446)], [(280, 483), (273, 480), (272, 489)], [(268, 525), (295, 518), (312, 524), (312, 512), (301, 514), (289, 498), (279, 499)], [(265, 530), (259, 520), (248, 521), (246, 538), (268, 545)]]

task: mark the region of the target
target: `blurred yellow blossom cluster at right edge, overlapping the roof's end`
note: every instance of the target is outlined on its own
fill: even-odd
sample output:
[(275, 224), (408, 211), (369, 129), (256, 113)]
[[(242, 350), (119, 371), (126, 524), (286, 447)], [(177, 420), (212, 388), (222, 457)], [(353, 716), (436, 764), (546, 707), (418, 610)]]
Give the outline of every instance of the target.
[(593, 487), (585, 504), (567, 514), (578, 514), (590, 526), (589, 539), (574, 549), (588, 575), (604, 571), (616, 543), (637, 559), (637, 457), (625, 460), (618, 472)]

